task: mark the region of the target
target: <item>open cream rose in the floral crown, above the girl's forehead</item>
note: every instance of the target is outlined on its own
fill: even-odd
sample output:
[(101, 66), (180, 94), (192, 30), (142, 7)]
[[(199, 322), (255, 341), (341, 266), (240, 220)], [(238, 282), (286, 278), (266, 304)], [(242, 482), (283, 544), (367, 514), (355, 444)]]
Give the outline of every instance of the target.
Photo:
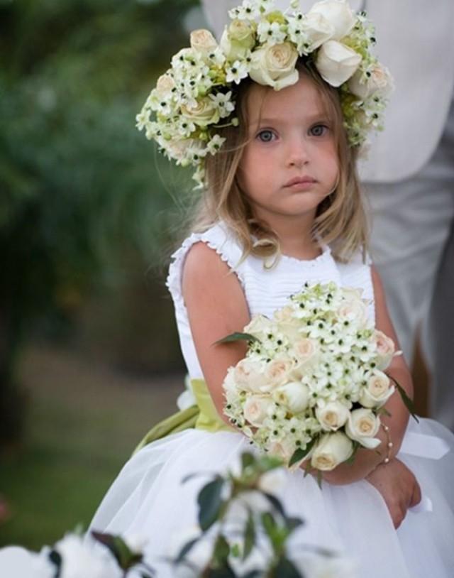
[(264, 45), (252, 54), (250, 77), (258, 84), (281, 90), (298, 82), (297, 59), (298, 52), (292, 43)]

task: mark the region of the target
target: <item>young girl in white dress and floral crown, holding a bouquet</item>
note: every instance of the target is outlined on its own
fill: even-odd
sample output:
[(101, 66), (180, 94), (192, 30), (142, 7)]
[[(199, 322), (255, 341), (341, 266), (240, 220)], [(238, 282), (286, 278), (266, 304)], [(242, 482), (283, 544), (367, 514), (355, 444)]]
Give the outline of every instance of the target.
[[(364, 52), (359, 64), (351, 48), (358, 35), (370, 41), (370, 28), (343, 2), (319, 3), (294, 20), (276, 12), (267, 19), (269, 4), (245, 2), (236, 9), (221, 47), (206, 31), (194, 33), (192, 48), (174, 57), (172, 71), (139, 116), (169, 156), (196, 165), (203, 185), (192, 233), (173, 255), (167, 280), (201, 415), (195, 429), (136, 452), (92, 522), (99, 531), (147, 535), (151, 562), (168, 551), (179, 530), (196, 523), (195, 497), (205, 480), (182, 484), (184, 476), (224, 471), (250, 450), (223, 415), (223, 378), (243, 358), (245, 345), (215, 344), (218, 339), (241, 332), (252, 315), (272, 317), (306, 281), (333, 280), (362, 290), (376, 327), (397, 342), (367, 257), (355, 171), (358, 144), (384, 102), (377, 87), (365, 94), (370, 75), (359, 82), (364, 94), (358, 95), (358, 86), (355, 92), (358, 66), (384, 74)], [(287, 37), (279, 36), (282, 18)], [(298, 20), (306, 23), (303, 43), (295, 32)], [(341, 40), (341, 48), (334, 45)], [(346, 57), (336, 60), (334, 49), (350, 50), (343, 79), (333, 80), (323, 60), (328, 54), (338, 74)], [(213, 70), (225, 74), (210, 84)], [(179, 102), (172, 132), (170, 103), (177, 92), (194, 89), (194, 78), (203, 89)], [(354, 101), (363, 106), (355, 109)], [(155, 124), (150, 108), (158, 111)], [(389, 375), (411, 395), (402, 356), (394, 357)], [(301, 541), (344, 550), (358, 560), (360, 577), (451, 577), (453, 437), (431, 420), (409, 421), (397, 395), (386, 407), (391, 417), (382, 419), (389, 427), (380, 432), (383, 451), (360, 450), (353, 464), (324, 474), (321, 487), (301, 469), (287, 471), (282, 501), (306, 521)], [(167, 575), (165, 569), (159, 575)]]

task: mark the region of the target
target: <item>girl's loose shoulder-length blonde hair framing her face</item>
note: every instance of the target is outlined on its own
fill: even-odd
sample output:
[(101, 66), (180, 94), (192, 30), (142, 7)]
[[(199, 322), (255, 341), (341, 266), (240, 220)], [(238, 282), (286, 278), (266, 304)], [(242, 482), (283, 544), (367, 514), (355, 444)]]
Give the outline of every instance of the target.
[[(367, 222), (356, 170), (358, 151), (348, 145), (338, 91), (324, 82), (309, 63), (299, 62), (298, 70), (300, 75), (307, 75), (314, 82), (326, 113), (333, 122), (339, 167), (335, 189), (317, 207), (312, 232), (323, 244), (331, 245), (333, 256), (339, 261), (348, 261), (358, 250), (365, 258)], [(238, 86), (235, 114), (240, 121), (239, 126), (221, 129), (226, 143), (215, 156), (206, 158), (206, 186), (194, 207), (189, 229), (192, 232), (205, 231), (222, 220), (243, 246), (242, 260), (253, 254), (265, 258), (267, 262), (271, 256), (275, 256), (276, 262), (280, 254), (279, 239), (266, 223), (255, 219), (237, 179), (243, 148), (248, 143), (247, 104), (252, 84), (247, 79)]]

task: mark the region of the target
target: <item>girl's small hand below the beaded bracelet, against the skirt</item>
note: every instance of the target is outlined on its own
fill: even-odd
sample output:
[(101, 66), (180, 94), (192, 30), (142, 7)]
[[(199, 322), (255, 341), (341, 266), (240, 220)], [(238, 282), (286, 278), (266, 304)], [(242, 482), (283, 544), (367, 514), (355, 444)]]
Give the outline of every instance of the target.
[(421, 488), (412, 471), (399, 459), (379, 464), (365, 478), (384, 499), (394, 528), (399, 528), (406, 511), (421, 501)]

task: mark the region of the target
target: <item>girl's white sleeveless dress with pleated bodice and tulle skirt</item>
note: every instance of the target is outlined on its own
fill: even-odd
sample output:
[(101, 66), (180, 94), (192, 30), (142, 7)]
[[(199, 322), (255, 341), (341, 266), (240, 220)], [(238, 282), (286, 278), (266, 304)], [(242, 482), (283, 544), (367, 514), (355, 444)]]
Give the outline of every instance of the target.
[[(204, 241), (228, 263), (243, 287), (250, 314), (271, 316), (273, 310), (301, 290), (306, 280), (333, 280), (363, 290), (375, 315), (370, 266), (360, 258), (336, 263), (328, 247), (312, 261), (282, 256), (275, 268), (265, 269), (260, 258), (248, 256), (237, 266), (241, 249), (221, 224), (204, 234), (192, 234), (174, 254), (167, 285), (175, 302), (182, 352), (191, 378), (203, 378), (182, 300), (184, 258), (192, 244)], [(342, 550), (358, 560), (360, 578), (452, 578), (454, 576), (454, 436), (432, 420), (410, 420), (401, 459), (416, 475), (423, 491), (423, 507), (409, 511), (398, 530), (387, 506), (367, 481), (321, 489), (301, 470), (287, 472), (279, 493), (289, 513), (304, 518), (298, 540)], [(101, 502), (91, 528), (111, 533), (148, 536), (147, 557), (169, 552), (175, 537), (196, 524), (196, 494), (206, 483), (193, 472), (224, 471), (239, 454), (250, 450), (239, 432), (185, 430), (140, 449), (123, 467)], [(0, 565), (1, 567), (1, 565)], [(158, 577), (171, 577), (167, 565)]]

